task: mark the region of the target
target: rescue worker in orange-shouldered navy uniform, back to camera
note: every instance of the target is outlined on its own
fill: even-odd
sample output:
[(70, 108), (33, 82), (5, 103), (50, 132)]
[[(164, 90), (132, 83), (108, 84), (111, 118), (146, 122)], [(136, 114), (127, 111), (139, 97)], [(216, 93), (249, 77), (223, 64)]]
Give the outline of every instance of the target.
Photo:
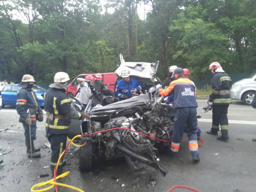
[[(183, 75), (182, 68), (174, 70), (175, 80), (170, 83), (165, 90), (160, 89), (160, 95), (167, 96), (170, 92), (174, 93), (174, 108), (176, 109), (174, 117), (174, 134), (172, 138), (170, 155), (178, 153), (183, 132), (187, 124), (187, 135), (189, 140), (189, 149), (192, 159), (199, 161), (199, 151), (197, 143), (197, 112), (198, 107), (195, 98), (195, 84)], [(157, 87), (158, 88), (158, 87)]]

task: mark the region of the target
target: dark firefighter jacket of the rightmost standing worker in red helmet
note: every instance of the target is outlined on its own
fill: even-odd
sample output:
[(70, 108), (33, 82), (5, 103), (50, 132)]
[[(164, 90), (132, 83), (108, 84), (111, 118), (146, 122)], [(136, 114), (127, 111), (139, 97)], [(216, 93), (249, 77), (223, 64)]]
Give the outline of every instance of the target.
[(213, 99), (213, 104), (230, 104), (230, 89), (232, 86), (231, 79), (227, 73), (217, 72), (211, 79), (211, 87), (213, 89), (210, 97)]

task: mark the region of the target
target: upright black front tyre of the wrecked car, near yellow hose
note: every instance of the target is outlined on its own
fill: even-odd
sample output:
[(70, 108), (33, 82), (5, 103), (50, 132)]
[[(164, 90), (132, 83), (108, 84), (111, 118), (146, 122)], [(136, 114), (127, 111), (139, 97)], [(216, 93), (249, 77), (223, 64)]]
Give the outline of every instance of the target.
[[(82, 139), (80, 143), (83, 143)], [(79, 168), (80, 171), (91, 171), (92, 169), (92, 143), (88, 142), (79, 150)]]

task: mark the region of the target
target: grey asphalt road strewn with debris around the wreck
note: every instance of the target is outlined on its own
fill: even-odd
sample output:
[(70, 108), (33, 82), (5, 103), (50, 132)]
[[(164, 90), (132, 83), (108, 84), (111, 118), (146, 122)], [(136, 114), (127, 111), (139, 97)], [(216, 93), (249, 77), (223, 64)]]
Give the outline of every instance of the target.
[[(234, 101), (229, 107), (229, 142), (218, 141), (206, 133), (211, 126), (211, 111), (201, 113), (207, 101), (198, 98), (199, 127), (204, 145), (199, 147), (200, 162), (193, 163), (187, 140), (181, 143), (175, 158), (160, 154), (160, 164), (169, 173), (163, 177), (155, 169), (133, 171), (124, 159), (100, 162), (94, 171), (81, 173), (78, 150), (71, 146), (65, 155), (71, 170), (58, 180), (81, 188), (85, 192), (167, 192), (176, 185), (186, 185), (201, 192), (256, 191), (256, 110)], [(41, 146), (41, 158), (29, 159), (26, 154), (23, 127), (13, 107), (0, 110), (0, 191), (29, 192), (37, 183), (52, 179), (49, 171), (50, 149), (45, 137), (45, 125), (37, 123), (36, 146)], [(184, 134), (183, 138), (186, 137)], [(40, 175), (47, 175), (40, 177)], [(54, 192), (54, 189), (49, 192)], [(72, 192), (58, 187), (59, 192)], [(187, 192), (174, 189), (173, 192)]]

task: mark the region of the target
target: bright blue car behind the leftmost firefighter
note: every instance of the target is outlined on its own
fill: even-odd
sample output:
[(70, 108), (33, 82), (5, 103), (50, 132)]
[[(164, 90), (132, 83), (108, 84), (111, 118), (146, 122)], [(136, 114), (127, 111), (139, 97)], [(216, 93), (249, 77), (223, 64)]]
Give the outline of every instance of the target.
[[(2, 85), (2, 108), (6, 105), (15, 106), (17, 102), (17, 93), (21, 89), (18, 84)], [(45, 106), (44, 94), (46, 89), (34, 84), (32, 87), (37, 95), (37, 100), (41, 107)]]

